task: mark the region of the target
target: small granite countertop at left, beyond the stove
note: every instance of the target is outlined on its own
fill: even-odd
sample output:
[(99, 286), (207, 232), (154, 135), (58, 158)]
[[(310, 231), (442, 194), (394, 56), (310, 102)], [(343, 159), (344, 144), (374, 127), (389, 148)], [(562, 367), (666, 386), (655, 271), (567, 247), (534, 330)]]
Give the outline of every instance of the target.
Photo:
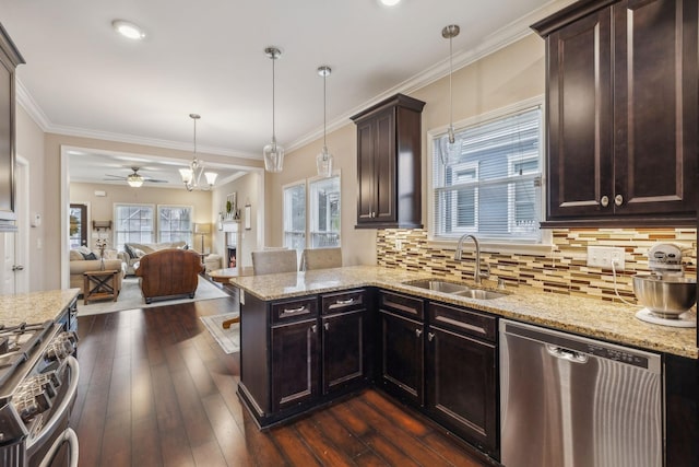
[(0, 324), (14, 326), (56, 320), (80, 289), (50, 290), (0, 297)]

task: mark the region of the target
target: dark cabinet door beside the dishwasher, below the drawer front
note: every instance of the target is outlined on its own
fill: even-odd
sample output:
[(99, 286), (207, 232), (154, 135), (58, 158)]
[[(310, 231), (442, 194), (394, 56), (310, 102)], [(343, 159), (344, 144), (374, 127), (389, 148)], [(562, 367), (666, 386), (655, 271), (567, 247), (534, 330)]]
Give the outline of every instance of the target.
[(496, 348), (429, 328), (427, 404), (433, 416), (482, 451), (497, 457)]

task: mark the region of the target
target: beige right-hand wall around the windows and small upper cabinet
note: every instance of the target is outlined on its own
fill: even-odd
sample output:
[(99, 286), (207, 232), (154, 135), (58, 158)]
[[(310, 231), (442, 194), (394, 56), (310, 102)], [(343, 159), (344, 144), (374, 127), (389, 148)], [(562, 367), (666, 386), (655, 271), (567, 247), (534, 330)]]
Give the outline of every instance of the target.
[[(531, 34), (453, 74), (454, 121), (506, 107), (544, 94), (544, 42)], [(449, 78), (438, 80), (410, 94), (426, 102), (423, 110), (423, 223), (427, 226), (427, 131), (449, 124)], [(332, 97), (330, 97), (332, 98)], [(281, 174), (266, 174), (268, 202), (265, 242), (282, 244), (282, 186), (316, 175), (316, 154), (322, 140), (313, 141), (286, 155)], [(377, 232), (355, 230), (357, 199), (357, 150), (355, 125), (328, 135), (328, 148), (342, 171), (342, 232), (345, 265), (377, 264)], [(369, 247), (371, 245), (371, 247)]]

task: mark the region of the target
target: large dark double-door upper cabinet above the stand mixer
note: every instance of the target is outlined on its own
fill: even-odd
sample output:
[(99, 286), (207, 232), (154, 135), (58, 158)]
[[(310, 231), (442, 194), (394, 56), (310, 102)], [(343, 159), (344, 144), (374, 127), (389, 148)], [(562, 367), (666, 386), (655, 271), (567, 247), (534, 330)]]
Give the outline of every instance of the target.
[(696, 0), (579, 1), (546, 40), (545, 226), (696, 225)]

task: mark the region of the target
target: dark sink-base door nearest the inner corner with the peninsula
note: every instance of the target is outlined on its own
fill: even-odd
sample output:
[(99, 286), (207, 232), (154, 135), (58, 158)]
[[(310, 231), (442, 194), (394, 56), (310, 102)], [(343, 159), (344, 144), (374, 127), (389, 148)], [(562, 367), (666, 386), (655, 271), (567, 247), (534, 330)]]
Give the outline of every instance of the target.
[(398, 397), (424, 404), (423, 324), (380, 312), (381, 383)]

